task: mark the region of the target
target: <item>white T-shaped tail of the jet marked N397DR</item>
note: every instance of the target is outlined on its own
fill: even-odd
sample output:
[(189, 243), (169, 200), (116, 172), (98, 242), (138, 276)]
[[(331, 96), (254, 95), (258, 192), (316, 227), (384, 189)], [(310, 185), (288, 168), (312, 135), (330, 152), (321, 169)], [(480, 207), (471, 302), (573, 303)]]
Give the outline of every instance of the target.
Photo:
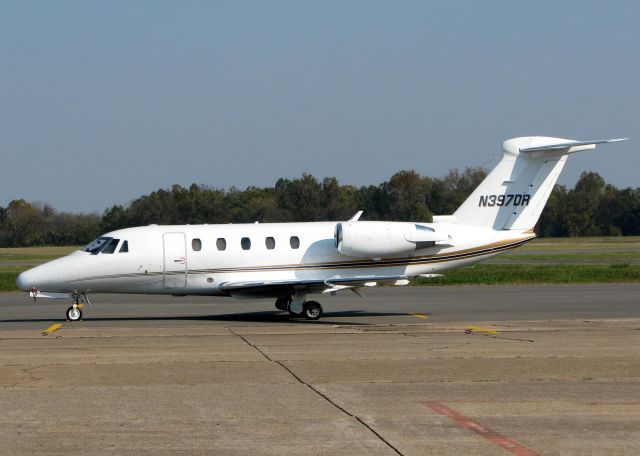
[(508, 139), (502, 143), (500, 162), (453, 214), (453, 220), (494, 230), (533, 230), (569, 154), (625, 139)]

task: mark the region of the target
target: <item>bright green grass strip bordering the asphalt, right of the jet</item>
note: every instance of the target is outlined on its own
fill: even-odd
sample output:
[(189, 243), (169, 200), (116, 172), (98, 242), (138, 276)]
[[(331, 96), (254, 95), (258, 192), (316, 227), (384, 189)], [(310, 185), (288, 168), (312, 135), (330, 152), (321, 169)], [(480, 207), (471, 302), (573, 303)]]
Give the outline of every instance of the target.
[(635, 264), (480, 264), (445, 271), (444, 277), (419, 278), (413, 285), (507, 285), (536, 283), (638, 283)]

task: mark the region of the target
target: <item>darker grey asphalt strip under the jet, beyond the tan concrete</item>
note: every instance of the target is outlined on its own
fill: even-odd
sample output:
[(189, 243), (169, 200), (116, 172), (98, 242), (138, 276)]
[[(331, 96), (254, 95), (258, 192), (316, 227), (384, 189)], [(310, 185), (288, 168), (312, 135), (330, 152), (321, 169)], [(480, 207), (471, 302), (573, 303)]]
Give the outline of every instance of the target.
[[(313, 296), (325, 315), (314, 324), (387, 325), (420, 322), (640, 318), (640, 284), (501, 285), (372, 288)], [(305, 323), (271, 300), (153, 295), (91, 295), (84, 322), (92, 327), (263, 325)], [(0, 329), (41, 329), (64, 321), (70, 302), (0, 293)]]

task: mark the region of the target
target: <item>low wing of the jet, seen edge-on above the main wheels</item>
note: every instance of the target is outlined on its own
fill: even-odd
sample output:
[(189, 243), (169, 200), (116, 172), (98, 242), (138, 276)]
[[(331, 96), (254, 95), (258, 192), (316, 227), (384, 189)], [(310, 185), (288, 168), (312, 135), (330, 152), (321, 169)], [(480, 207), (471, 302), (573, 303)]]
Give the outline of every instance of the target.
[(377, 285), (408, 285), (410, 276), (356, 276), (330, 277), (322, 279), (265, 280), (256, 282), (226, 282), (221, 285), (223, 291), (231, 296), (267, 298), (299, 292), (334, 293), (359, 287)]

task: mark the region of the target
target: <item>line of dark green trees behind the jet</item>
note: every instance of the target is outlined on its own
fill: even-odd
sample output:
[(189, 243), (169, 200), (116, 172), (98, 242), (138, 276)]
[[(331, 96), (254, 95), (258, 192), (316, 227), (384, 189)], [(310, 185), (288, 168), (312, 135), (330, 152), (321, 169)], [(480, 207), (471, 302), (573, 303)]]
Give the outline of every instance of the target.
[[(279, 179), (273, 187), (218, 189), (174, 185), (114, 205), (98, 214), (58, 212), (43, 204), (14, 200), (0, 207), (0, 247), (85, 244), (119, 228), (157, 223), (247, 223), (346, 220), (431, 221), (447, 215), (484, 179), (483, 168), (451, 170), (444, 178), (400, 171), (380, 185), (340, 185), (310, 174)], [(640, 188), (618, 189), (594, 172), (582, 173), (574, 188), (556, 185), (536, 227), (539, 236), (640, 235)]]

